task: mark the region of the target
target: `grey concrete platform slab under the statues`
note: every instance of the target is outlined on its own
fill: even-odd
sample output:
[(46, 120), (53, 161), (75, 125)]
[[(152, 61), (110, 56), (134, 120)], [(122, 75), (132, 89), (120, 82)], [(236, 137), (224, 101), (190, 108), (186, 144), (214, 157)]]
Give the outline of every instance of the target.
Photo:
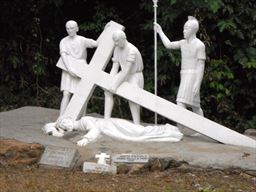
[[(94, 160), (99, 152), (110, 155), (120, 153), (149, 154), (151, 157), (171, 157), (186, 161), (191, 166), (202, 168), (241, 168), (256, 170), (256, 149), (220, 144), (204, 136), (185, 136), (181, 142), (129, 142), (107, 136), (86, 147), (77, 146), (74, 141), (81, 134), (70, 134), (64, 138), (48, 136), (41, 128), (45, 123), (55, 121), (59, 111), (42, 107), (22, 107), (0, 113), (0, 137), (43, 145), (65, 146), (78, 149), (82, 161)], [(255, 139), (255, 138), (254, 138)]]

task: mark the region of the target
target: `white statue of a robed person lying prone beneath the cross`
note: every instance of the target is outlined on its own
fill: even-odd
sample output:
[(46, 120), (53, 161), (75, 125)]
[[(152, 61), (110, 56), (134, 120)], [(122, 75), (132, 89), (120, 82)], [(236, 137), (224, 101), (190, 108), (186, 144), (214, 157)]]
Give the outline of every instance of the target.
[(62, 137), (65, 131), (87, 131), (83, 138), (77, 142), (79, 146), (86, 146), (95, 142), (101, 135), (128, 141), (157, 141), (178, 142), (183, 134), (173, 125), (142, 126), (133, 124), (124, 119), (101, 119), (90, 116), (82, 117), (78, 121), (69, 118), (60, 119), (56, 123), (48, 123), (43, 127), (45, 133)]

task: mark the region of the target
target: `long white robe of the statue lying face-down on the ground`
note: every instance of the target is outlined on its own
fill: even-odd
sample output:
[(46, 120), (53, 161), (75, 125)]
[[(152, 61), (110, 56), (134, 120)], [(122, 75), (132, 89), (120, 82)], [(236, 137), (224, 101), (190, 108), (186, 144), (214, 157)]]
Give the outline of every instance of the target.
[(84, 136), (88, 142), (96, 141), (100, 135), (107, 135), (129, 141), (169, 141), (178, 142), (183, 138), (179, 129), (170, 124), (163, 126), (135, 125), (124, 119), (99, 119), (82, 117), (78, 122), (79, 130), (89, 130)]

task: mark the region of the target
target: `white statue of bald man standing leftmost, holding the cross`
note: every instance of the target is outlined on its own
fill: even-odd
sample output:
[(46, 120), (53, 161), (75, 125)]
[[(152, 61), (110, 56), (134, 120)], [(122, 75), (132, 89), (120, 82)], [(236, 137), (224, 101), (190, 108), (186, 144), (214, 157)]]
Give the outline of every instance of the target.
[[(77, 35), (79, 30), (75, 21), (70, 20), (66, 23), (68, 36), (60, 41), (60, 55), (58, 62), (63, 62), (67, 71), (62, 70), (61, 91), (63, 97), (60, 105), (60, 116), (63, 115), (69, 104), (80, 78), (76, 75), (76, 63), (74, 60), (83, 59), (87, 63), (87, 48), (97, 47), (97, 41)], [(72, 58), (72, 60), (70, 60)], [(58, 64), (57, 64), (58, 65)]]

